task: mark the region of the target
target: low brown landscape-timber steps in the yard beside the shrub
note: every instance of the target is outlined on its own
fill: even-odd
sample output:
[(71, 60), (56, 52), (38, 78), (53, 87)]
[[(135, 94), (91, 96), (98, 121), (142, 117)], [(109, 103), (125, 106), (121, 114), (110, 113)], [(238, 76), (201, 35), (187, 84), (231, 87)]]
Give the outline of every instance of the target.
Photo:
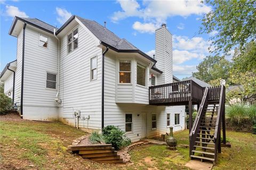
[(123, 163), (123, 159), (117, 155), (117, 151), (111, 144), (71, 145), (69, 148), (73, 153), (99, 163)]

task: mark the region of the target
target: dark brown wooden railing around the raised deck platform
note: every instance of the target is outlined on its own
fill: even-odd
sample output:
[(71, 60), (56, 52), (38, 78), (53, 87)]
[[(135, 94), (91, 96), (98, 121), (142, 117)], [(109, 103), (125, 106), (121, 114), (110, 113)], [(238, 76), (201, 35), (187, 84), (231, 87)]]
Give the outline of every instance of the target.
[(204, 88), (192, 80), (149, 87), (149, 104), (200, 102)]

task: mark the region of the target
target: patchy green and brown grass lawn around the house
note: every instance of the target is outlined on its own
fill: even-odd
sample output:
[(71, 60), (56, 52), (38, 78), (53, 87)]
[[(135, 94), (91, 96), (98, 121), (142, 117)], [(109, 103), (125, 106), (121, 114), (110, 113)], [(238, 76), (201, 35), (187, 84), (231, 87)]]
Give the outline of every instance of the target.
[[(86, 133), (59, 122), (1, 118), (0, 134), (0, 169), (187, 169), (189, 160), (188, 148), (147, 145), (131, 151), (130, 164), (98, 164), (70, 154), (68, 145)], [(174, 135), (188, 145), (188, 131)], [(232, 147), (222, 148), (214, 169), (254, 169), (256, 135), (228, 131), (227, 137)]]

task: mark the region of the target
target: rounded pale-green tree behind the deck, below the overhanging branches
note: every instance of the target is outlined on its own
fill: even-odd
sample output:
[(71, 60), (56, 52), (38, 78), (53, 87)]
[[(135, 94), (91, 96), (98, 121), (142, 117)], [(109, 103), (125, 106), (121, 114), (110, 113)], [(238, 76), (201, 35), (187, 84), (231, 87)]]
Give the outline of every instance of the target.
[(207, 56), (196, 66), (198, 72), (193, 73), (193, 76), (205, 82), (210, 82), (217, 79), (227, 80), (231, 63), (220, 56)]

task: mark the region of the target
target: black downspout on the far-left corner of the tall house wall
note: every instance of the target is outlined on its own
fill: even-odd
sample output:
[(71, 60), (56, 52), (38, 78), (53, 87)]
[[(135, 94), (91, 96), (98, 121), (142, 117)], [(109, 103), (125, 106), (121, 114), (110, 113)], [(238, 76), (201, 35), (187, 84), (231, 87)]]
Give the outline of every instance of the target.
[(24, 59), (25, 59), (25, 29), (27, 22), (23, 26), (22, 39), (22, 65), (21, 65), (21, 94), (20, 94), (20, 114), (23, 115), (23, 86), (24, 86)]

